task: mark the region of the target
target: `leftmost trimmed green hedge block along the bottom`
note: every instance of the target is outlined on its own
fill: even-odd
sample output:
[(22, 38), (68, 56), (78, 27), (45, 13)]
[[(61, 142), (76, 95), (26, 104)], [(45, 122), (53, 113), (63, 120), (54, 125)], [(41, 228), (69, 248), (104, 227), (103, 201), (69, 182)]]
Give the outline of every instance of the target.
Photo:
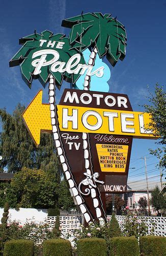
[(10, 240), (5, 243), (4, 256), (32, 256), (34, 242), (30, 240)]

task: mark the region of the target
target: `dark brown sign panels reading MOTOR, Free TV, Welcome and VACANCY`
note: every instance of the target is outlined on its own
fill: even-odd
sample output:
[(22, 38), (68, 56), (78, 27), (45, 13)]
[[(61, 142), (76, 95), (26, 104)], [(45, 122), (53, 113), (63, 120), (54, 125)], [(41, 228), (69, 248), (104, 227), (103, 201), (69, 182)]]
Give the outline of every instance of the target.
[[(76, 93), (76, 96), (73, 96), (73, 93)], [(127, 110), (132, 111), (127, 95), (90, 91), (88, 94), (92, 97), (89, 104), (85, 91), (65, 89), (59, 105), (79, 104), (82, 107), (88, 106), (89, 110), (91, 108), (126, 110), (125, 104), (120, 105), (120, 101), (118, 102), (121, 99), (123, 103), (126, 99)], [(85, 150), (85, 135), (88, 136), (87, 148), (90, 148), (88, 157), (85, 156), (88, 154)], [(96, 208), (99, 208), (100, 217), (105, 219), (105, 194), (126, 191), (132, 136), (97, 134), (95, 131), (90, 134), (60, 131), (60, 136), (71, 173), (91, 213), (91, 218), (98, 220)], [(87, 159), (89, 159), (88, 167)]]

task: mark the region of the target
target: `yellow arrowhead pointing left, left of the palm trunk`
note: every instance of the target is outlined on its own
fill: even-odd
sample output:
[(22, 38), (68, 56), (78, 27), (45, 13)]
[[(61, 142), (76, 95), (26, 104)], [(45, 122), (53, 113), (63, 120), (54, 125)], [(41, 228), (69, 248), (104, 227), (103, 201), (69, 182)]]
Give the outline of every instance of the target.
[(42, 103), (42, 94), (40, 90), (22, 115), (36, 146), (40, 144), (40, 133), (52, 131), (49, 104)]

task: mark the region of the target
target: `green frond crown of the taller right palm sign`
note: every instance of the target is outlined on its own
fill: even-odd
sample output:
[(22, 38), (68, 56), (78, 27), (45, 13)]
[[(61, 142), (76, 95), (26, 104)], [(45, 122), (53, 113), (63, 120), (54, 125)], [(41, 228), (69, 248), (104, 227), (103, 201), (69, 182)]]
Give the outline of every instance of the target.
[[(110, 14), (86, 13), (64, 19), (62, 26), (71, 28), (70, 44), (79, 51), (96, 46), (100, 58), (106, 55), (113, 66), (118, 59), (123, 60), (126, 55), (125, 28)], [(75, 46), (77, 42), (81, 42), (81, 47)]]

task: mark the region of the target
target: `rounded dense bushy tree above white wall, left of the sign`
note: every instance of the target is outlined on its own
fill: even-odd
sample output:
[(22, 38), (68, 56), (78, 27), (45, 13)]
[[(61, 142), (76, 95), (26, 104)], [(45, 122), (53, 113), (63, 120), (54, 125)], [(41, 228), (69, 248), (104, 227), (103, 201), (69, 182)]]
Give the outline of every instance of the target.
[(12, 208), (53, 208), (58, 204), (59, 183), (56, 174), (23, 168), (14, 175), (6, 200)]

